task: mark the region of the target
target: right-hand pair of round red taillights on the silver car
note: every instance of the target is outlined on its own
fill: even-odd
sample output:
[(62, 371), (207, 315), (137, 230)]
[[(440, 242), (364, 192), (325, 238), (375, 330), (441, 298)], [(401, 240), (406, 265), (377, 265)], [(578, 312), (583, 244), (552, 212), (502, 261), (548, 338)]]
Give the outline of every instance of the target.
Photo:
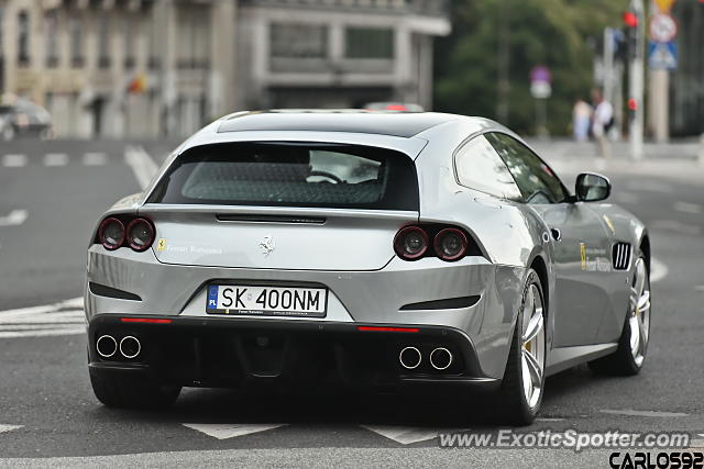
[(468, 255), (470, 247), (466, 233), (453, 226), (406, 226), (394, 238), (394, 250), (404, 260), (429, 256), (448, 261), (460, 260)]

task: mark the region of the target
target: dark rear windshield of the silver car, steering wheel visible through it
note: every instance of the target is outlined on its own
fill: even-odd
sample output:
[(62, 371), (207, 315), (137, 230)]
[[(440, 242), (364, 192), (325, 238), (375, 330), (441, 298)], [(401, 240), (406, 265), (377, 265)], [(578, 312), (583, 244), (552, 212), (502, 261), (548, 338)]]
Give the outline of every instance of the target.
[(237, 143), (180, 155), (151, 203), (418, 210), (414, 161), (351, 145)]

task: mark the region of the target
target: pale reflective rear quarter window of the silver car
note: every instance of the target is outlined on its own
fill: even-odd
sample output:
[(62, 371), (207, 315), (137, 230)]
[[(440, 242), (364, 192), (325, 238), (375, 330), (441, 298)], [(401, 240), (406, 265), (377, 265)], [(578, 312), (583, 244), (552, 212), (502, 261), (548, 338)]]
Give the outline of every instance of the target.
[(521, 199), (508, 168), (483, 135), (459, 149), (454, 165), (462, 186), (505, 199)]

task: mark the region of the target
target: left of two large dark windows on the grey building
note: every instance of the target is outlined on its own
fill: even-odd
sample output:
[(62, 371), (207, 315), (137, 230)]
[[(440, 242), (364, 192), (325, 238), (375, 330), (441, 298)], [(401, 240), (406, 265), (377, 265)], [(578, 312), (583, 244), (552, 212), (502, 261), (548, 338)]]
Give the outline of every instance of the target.
[(324, 58), (328, 55), (328, 27), (323, 25), (272, 23), (272, 57)]

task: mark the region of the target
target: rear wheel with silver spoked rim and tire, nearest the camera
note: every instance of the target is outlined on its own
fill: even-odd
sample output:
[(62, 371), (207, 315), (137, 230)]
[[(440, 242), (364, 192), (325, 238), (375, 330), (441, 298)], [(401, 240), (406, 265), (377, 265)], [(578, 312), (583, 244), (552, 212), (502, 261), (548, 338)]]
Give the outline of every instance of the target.
[[(537, 295), (537, 297), (536, 297)], [(532, 302), (532, 306), (530, 304)], [(516, 319), (516, 326), (514, 327), (514, 335), (512, 337), (510, 350), (508, 353), (508, 361), (506, 362), (506, 371), (504, 372), (504, 379), (502, 386), (495, 395), (496, 405), (495, 409), (499, 412), (498, 420), (501, 423), (509, 425), (529, 425), (536, 418), (536, 415), (542, 403), (542, 394), (544, 390), (544, 364), (546, 364), (546, 328), (544, 328), (544, 294), (540, 278), (535, 270), (530, 269), (528, 278), (526, 279), (526, 286), (524, 287), (524, 293), (520, 302), (520, 308)], [(532, 308), (532, 310), (531, 310)], [(539, 311), (538, 311), (539, 310)], [(526, 313), (530, 313), (531, 316), (526, 319)], [(528, 333), (528, 326), (537, 322), (538, 331), (536, 332), (536, 340), (524, 340)], [(527, 357), (525, 354), (531, 355), (538, 368), (534, 368), (535, 371), (539, 371), (534, 375), (534, 379), (528, 378), (531, 382), (531, 389), (535, 391), (538, 384), (537, 395), (526, 391), (526, 381), (524, 376), (529, 371)], [(539, 376), (539, 378), (537, 378)], [(531, 398), (528, 398), (528, 394)], [(530, 400), (530, 402), (529, 402)]]

